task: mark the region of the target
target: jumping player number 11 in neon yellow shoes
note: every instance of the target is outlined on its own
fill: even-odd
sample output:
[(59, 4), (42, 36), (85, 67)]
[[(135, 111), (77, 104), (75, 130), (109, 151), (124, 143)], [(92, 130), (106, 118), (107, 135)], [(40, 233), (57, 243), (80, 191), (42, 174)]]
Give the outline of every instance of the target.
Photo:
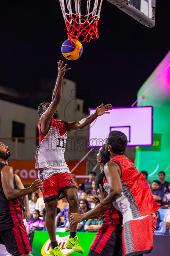
[[(64, 160), (64, 150), (68, 131), (76, 131), (93, 122), (97, 116), (103, 115), (111, 110), (111, 104), (101, 104), (96, 112), (79, 122), (56, 121), (58, 119), (57, 108), (61, 101), (62, 79), (67, 68), (63, 66), (63, 61), (58, 62), (58, 76), (54, 88), (51, 103), (42, 102), (38, 106), (40, 121), (39, 142), (36, 152), (36, 165), (38, 177), (43, 180), (43, 197), (46, 208), (46, 227), (51, 240), (50, 254), (53, 256), (63, 255), (60, 251), (55, 235), (55, 216), (57, 209), (57, 199), (66, 197), (69, 203), (69, 219), (71, 212), (79, 212), (77, 188), (74, 179)], [(67, 248), (83, 253), (76, 237), (77, 224), (70, 225), (70, 237), (66, 243)]]

